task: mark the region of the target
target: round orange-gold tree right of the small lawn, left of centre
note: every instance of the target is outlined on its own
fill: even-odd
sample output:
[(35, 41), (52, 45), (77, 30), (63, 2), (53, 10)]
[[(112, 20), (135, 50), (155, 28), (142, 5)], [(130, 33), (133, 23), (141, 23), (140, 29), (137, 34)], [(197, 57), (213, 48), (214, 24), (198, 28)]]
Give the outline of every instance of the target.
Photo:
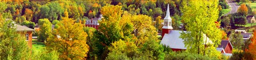
[(60, 53), (60, 59), (86, 59), (89, 46), (86, 44), (84, 25), (67, 17), (63, 17), (57, 25), (59, 27), (47, 38), (46, 48)]

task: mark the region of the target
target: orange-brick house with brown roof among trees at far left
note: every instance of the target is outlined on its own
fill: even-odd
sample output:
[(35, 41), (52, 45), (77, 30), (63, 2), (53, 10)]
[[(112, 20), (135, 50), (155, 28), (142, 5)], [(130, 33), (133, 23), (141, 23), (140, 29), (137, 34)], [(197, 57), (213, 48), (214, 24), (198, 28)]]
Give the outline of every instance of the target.
[[(31, 48), (32, 47), (32, 33), (35, 31), (34, 29), (31, 29), (27, 26), (21, 26), (18, 24), (14, 24), (14, 26), (16, 25), (16, 31), (18, 33), (20, 33), (21, 35), (25, 35), (26, 37), (26, 41), (28, 42), (28, 46)], [(23, 33), (26, 32), (26, 33)]]

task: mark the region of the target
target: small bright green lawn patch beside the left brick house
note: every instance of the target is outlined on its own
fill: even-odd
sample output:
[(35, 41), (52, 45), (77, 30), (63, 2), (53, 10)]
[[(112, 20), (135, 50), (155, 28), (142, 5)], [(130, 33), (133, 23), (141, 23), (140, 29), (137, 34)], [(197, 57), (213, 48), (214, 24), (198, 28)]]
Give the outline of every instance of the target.
[(35, 39), (32, 39), (32, 42), (36, 43), (36, 44), (32, 44), (33, 46), (32, 48), (34, 52), (42, 52), (44, 50), (45, 44), (43, 42), (38, 42)]

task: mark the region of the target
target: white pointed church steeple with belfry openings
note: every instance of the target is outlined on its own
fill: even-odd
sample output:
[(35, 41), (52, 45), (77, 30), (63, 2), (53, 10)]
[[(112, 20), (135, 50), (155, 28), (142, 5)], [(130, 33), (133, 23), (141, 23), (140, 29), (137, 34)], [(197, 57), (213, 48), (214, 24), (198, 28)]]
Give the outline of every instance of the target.
[(164, 17), (164, 26), (162, 28), (163, 29), (173, 29), (172, 28), (172, 18), (170, 16), (169, 4), (167, 6), (166, 16)]

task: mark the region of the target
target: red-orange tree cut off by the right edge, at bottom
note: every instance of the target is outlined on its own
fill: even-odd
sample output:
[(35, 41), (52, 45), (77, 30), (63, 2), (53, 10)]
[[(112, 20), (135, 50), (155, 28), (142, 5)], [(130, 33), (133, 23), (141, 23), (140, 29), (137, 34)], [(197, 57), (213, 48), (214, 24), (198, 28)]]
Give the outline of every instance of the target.
[(251, 38), (251, 44), (249, 48), (245, 50), (246, 53), (250, 53), (253, 59), (256, 59), (256, 31), (253, 32), (253, 37)]

